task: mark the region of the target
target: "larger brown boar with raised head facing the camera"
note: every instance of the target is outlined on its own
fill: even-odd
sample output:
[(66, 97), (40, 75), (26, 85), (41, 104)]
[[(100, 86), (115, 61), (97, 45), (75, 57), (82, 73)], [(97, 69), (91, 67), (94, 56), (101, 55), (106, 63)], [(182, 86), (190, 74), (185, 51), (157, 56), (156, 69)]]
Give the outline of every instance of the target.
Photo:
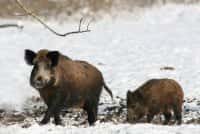
[(97, 120), (98, 102), (102, 87), (112, 97), (101, 72), (85, 61), (76, 61), (58, 51), (25, 50), (25, 61), (33, 65), (30, 84), (36, 88), (48, 109), (41, 124), (53, 116), (55, 124), (61, 124), (62, 108), (83, 108), (92, 125)]

